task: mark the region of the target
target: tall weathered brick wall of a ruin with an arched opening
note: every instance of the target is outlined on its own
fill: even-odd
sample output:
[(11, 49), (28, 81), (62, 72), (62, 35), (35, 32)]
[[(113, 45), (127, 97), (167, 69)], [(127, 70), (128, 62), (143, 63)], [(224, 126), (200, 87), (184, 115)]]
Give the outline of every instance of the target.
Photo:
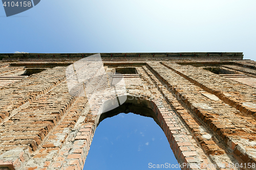
[(121, 112), (153, 117), (182, 169), (256, 169), (255, 61), (242, 53), (104, 53), (109, 81), (122, 72), (129, 100), (93, 115), (86, 96), (69, 93), (65, 73), (91, 55), (0, 54), (1, 170), (82, 169), (97, 125)]

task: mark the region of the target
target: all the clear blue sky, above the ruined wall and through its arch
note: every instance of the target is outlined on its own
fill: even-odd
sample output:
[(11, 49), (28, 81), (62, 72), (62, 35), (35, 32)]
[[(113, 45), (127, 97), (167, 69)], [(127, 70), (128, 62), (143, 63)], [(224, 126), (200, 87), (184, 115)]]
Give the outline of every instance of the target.
[[(6, 17), (4, 7), (0, 7), (0, 53), (244, 52), (245, 59), (256, 61), (255, 16), (256, 1), (253, 0), (42, 0), (32, 9), (11, 17)], [(100, 146), (104, 148), (96, 152), (102, 154), (101, 159), (97, 156), (97, 160), (88, 159), (98, 162), (97, 166), (104, 166), (99, 162), (108, 166), (110, 150), (117, 163), (134, 153), (140, 155), (144, 152), (141, 159), (137, 159), (141, 164), (136, 162), (140, 168), (133, 167), (143, 169), (145, 163), (157, 160), (158, 150), (160, 153), (171, 151), (163, 137), (161, 141), (165, 144), (161, 147), (165, 146), (165, 149), (157, 148), (157, 145), (151, 148), (160, 142), (160, 136), (154, 137), (154, 141), (152, 136), (163, 136), (163, 133), (154, 122), (147, 122), (148, 118), (135, 116), (135, 120), (143, 118), (143, 121), (133, 123), (132, 127), (134, 118), (130, 115), (105, 119), (96, 130), (91, 148), (92, 151)], [(121, 120), (124, 122), (119, 124)], [(117, 131), (107, 133), (106, 127)], [(135, 133), (135, 127), (145, 136)], [(147, 128), (153, 128), (154, 134)], [(134, 142), (127, 138), (129, 133)], [(120, 140), (116, 139), (118, 134)], [(109, 140), (104, 140), (104, 137)], [(111, 148), (111, 141), (115, 149)], [(130, 142), (125, 144), (126, 141)], [(123, 148), (123, 145), (129, 148)], [(139, 145), (141, 151), (138, 151)], [(130, 153), (127, 155), (126, 151)], [(149, 154), (152, 152), (155, 155)], [(96, 153), (89, 153), (89, 156)], [(121, 153), (124, 155), (120, 156)], [(170, 156), (169, 152), (166, 156)], [(163, 158), (160, 160), (165, 162)], [(131, 169), (132, 164), (127, 163)]]

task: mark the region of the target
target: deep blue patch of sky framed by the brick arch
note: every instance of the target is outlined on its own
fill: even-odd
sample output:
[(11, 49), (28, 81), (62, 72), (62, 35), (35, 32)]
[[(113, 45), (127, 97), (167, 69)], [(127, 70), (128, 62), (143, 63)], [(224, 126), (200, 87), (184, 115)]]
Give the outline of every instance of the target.
[(83, 170), (169, 169), (178, 162), (162, 129), (151, 117), (120, 113), (97, 127)]

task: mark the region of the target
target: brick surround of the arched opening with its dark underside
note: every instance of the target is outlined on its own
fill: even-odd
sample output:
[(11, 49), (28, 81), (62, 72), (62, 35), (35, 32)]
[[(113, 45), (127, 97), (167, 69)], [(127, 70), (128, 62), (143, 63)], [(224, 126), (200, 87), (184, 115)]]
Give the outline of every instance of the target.
[[(77, 163), (74, 167), (82, 169), (82, 165), (90, 150), (96, 127), (104, 118), (112, 117), (120, 112), (133, 112), (142, 116), (152, 117), (165, 133), (170, 148), (172, 148), (178, 162), (183, 164), (182, 169), (190, 169), (190, 166), (195, 169), (196, 164), (202, 165), (206, 162), (210, 162), (202, 149), (198, 147), (196, 141), (192, 139), (192, 136), (184, 133), (184, 127), (179, 125), (177, 120), (175, 120), (177, 117), (174, 110), (169, 110), (168, 108), (163, 107), (163, 99), (151, 101), (141, 97), (128, 95), (124, 104), (111, 111), (102, 113), (101, 115), (92, 115), (89, 111), (83, 124), (79, 127), (79, 130), (76, 131), (76, 134), (73, 137), (74, 145), (72, 147), (74, 149), (72, 149), (61, 162), (62, 167), (67, 161), (70, 161)], [(63, 151), (65, 152), (65, 149)], [(80, 166), (78, 166), (79, 162)], [(81, 163), (83, 164), (81, 165)], [(55, 164), (51, 165), (52, 166), (49, 167), (53, 168)], [(71, 168), (70, 166), (71, 164), (67, 164), (64, 167)]]

